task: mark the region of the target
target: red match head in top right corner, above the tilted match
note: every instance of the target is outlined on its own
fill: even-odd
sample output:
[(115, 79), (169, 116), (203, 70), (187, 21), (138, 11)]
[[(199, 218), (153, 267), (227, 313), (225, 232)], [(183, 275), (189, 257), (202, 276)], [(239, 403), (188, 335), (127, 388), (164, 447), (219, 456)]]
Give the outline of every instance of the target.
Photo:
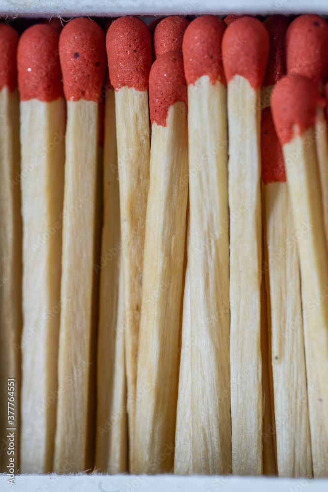
[(328, 24), (318, 15), (300, 15), (286, 32), (287, 73), (314, 82), (328, 77)]

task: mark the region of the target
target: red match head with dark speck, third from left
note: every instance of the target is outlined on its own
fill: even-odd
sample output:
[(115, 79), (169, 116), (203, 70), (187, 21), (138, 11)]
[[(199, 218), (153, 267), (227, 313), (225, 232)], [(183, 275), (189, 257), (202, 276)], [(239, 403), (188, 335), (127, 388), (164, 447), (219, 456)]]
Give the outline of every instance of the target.
[(61, 31), (59, 51), (67, 101), (98, 102), (106, 65), (101, 27), (91, 19), (73, 19)]

